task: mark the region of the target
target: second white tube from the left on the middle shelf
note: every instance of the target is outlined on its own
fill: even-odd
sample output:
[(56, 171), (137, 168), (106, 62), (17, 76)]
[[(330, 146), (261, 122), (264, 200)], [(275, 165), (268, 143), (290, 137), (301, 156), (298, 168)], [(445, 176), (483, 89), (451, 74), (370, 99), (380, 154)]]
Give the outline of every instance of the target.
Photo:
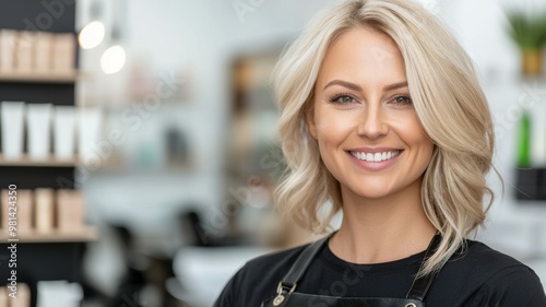
[(32, 161), (47, 161), (51, 135), (51, 105), (27, 105), (27, 149)]

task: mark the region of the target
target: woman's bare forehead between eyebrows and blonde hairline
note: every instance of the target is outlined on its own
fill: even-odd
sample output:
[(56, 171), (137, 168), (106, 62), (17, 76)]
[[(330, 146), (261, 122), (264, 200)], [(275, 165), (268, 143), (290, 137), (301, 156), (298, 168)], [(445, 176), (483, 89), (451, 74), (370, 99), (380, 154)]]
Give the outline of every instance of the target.
[(330, 46), (317, 82), (332, 79), (373, 83), (405, 80), (404, 59), (394, 40), (369, 27), (356, 27), (341, 34)]

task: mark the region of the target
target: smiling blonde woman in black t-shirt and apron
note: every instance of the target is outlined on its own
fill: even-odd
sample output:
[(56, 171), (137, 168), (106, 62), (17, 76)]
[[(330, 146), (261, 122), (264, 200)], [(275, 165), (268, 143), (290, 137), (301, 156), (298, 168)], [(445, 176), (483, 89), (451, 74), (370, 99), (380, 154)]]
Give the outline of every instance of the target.
[(407, 0), (337, 4), (275, 81), (281, 211), (320, 232), (342, 210), (342, 225), (248, 262), (215, 306), (546, 306), (531, 269), (466, 239), (492, 200), (494, 126), (434, 15)]

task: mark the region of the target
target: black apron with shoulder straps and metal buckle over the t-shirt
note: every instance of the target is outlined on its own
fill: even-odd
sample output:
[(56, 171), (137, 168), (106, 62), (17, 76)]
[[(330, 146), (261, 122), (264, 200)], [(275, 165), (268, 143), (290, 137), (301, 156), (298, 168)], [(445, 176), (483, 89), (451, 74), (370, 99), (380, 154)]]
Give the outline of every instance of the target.
[[(412, 287), (407, 292), (406, 298), (391, 297), (336, 297), (325, 295), (312, 295), (295, 292), (300, 278), (304, 275), (309, 264), (328, 241), (330, 236), (309, 245), (299, 258), (292, 265), (288, 273), (278, 283), (277, 295), (262, 303), (262, 307), (310, 307), (310, 306), (336, 306), (336, 307), (425, 307), (423, 299), (427, 295), (438, 271), (424, 276), (415, 278)], [(422, 262), (425, 263), (430, 255), (438, 248), (441, 236), (436, 234), (425, 252)], [(314, 302), (314, 303), (313, 303)], [(320, 302), (320, 305), (316, 305)]]

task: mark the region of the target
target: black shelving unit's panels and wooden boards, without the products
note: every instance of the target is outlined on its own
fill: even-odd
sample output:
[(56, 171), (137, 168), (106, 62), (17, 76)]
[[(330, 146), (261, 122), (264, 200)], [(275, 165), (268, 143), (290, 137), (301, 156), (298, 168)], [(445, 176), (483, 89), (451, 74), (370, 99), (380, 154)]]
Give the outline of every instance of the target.
[[(0, 29), (75, 33), (76, 1), (0, 1)], [(74, 48), (76, 52), (76, 48)], [(74, 72), (70, 73), (0, 73), (0, 101), (75, 105), (78, 57)], [(17, 189), (74, 189), (78, 163), (56, 161), (33, 162), (24, 156), (20, 161), (5, 161), (0, 156), (0, 189), (16, 185)], [(5, 232), (2, 229), (2, 232)], [(0, 259), (9, 259), (7, 234), (0, 235)], [(82, 235), (28, 235), (17, 243), (17, 283), (31, 288), (31, 306), (37, 304), (37, 282), (67, 280), (79, 282), (84, 243), (96, 238), (90, 228)], [(5, 283), (11, 269), (0, 267), (0, 280)]]

